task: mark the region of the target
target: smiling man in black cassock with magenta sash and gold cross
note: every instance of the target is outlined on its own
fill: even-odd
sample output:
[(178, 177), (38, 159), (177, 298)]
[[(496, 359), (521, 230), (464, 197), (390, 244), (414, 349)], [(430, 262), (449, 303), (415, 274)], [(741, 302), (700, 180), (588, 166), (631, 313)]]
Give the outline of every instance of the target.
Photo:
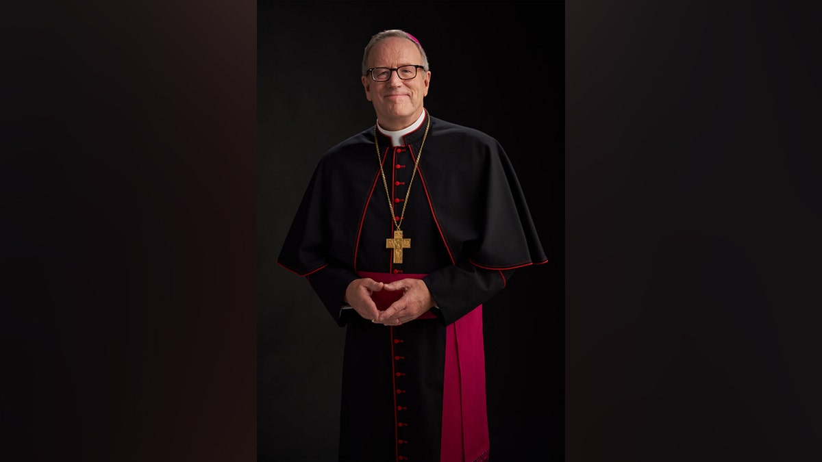
[(499, 143), (424, 108), (417, 39), (374, 35), (362, 82), (376, 124), (322, 157), (278, 258), (346, 327), (339, 460), (487, 460), (482, 303), (547, 258)]

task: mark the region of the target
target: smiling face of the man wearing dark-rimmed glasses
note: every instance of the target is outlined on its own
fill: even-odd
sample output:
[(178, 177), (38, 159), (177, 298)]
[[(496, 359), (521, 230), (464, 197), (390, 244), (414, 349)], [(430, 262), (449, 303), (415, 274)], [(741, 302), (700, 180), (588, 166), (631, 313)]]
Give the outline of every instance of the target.
[[(408, 39), (389, 37), (376, 44), (368, 54), (367, 67), (400, 67), (423, 64), (417, 47)], [(417, 70), (417, 76), (404, 81), (391, 72), (389, 81), (376, 82), (369, 73), (363, 76), (365, 97), (374, 104), (380, 126), (399, 130), (416, 122), (423, 112), (423, 97), (428, 94), (431, 72)]]

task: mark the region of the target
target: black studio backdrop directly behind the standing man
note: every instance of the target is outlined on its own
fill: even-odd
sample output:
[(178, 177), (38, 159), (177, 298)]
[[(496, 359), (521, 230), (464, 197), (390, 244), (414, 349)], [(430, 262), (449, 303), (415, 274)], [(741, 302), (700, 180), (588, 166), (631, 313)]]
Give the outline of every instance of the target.
[(426, 49), (428, 111), (495, 136), (517, 170), (549, 262), (518, 270), (483, 306), (492, 454), (560, 460), (563, 16), (562, 2), (258, 5), (258, 460), (336, 457), (344, 329), (275, 260), (320, 156), (376, 120), (360, 63), (385, 29)]

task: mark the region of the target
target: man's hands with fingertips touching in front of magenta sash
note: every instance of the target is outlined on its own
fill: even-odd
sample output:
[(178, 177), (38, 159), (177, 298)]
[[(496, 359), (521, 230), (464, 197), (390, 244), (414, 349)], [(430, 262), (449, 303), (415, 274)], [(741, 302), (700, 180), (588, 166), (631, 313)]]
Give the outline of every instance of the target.
[[(386, 311), (376, 309), (372, 293), (381, 290), (402, 290), (404, 293)], [(428, 286), (423, 280), (404, 279), (392, 283), (376, 282), (371, 278), (351, 281), (345, 289), (345, 300), (363, 318), (386, 326), (399, 326), (413, 321), (435, 305)]]

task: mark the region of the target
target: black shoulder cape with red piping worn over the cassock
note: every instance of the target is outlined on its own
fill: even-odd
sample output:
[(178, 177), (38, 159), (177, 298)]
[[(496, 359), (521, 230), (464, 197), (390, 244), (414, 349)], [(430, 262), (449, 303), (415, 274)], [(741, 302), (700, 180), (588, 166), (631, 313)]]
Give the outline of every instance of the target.
[[(423, 184), (452, 263), (510, 270), (547, 261), (520, 182), (499, 142), (478, 130), (427, 117), (431, 127), (415, 181)], [(281, 266), (302, 276), (332, 261), (356, 269), (367, 203), (372, 194), (384, 194), (373, 133), (370, 127), (323, 155), (285, 238)], [(418, 129), (406, 139), (413, 144), (422, 137)], [(389, 143), (382, 136), (380, 142)]]

